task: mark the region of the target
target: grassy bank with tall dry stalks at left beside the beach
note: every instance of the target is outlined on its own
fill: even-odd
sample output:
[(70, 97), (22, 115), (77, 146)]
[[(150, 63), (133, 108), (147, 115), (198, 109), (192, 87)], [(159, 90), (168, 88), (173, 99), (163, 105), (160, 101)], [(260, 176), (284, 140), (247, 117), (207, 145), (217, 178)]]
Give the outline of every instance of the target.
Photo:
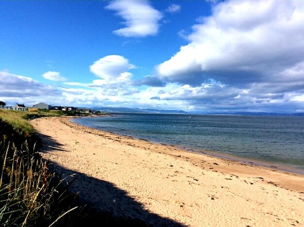
[(61, 225), (77, 208), (36, 152), (40, 141), (26, 120), (33, 114), (56, 115), (0, 110), (0, 226)]

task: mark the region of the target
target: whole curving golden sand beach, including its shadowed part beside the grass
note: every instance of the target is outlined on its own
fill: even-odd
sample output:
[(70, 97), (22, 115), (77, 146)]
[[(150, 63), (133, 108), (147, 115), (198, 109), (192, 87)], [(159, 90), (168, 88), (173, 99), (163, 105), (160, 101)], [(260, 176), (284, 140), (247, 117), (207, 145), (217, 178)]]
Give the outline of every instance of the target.
[(304, 226), (304, 176), (94, 130), (32, 121), (43, 156), (101, 211), (155, 226)]

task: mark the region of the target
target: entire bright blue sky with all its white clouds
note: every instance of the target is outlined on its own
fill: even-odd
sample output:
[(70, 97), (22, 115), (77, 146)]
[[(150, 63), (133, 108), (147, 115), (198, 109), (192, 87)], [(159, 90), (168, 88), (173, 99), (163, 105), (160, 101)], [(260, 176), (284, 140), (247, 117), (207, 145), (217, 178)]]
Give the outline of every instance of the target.
[(304, 1), (1, 0), (0, 100), (304, 112)]

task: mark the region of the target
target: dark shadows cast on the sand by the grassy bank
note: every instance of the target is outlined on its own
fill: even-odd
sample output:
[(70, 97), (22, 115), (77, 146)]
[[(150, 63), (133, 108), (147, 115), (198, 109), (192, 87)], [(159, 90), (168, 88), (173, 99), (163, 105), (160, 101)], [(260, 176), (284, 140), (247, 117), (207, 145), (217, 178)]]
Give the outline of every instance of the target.
[[(39, 134), (39, 136), (44, 144), (41, 148), (42, 152), (65, 151), (61, 148), (62, 145), (50, 136), (43, 134)], [(55, 162), (48, 162), (48, 166), (51, 172), (57, 173), (60, 178), (65, 178), (69, 193), (78, 194), (76, 202), (81, 205), (87, 204), (88, 208), (92, 210), (96, 220), (92, 220), (89, 226), (121, 226), (124, 224), (132, 226), (185, 226), (145, 210), (141, 203), (135, 201), (126, 191), (119, 189), (111, 182), (69, 170)]]

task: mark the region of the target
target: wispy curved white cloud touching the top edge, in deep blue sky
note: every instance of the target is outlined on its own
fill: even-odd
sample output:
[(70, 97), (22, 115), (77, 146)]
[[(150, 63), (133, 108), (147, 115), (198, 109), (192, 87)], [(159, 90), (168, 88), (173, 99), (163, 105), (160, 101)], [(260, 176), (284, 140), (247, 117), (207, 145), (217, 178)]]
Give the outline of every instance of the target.
[(105, 8), (117, 11), (117, 15), (125, 19), (126, 27), (114, 31), (125, 37), (157, 34), (158, 22), (163, 17), (147, 0), (113, 0)]

